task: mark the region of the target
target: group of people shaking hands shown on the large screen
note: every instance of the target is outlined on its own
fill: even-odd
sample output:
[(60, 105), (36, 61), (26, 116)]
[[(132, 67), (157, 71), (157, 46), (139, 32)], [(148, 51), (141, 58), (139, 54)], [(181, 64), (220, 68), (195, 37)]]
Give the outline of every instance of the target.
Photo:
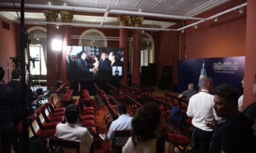
[[(72, 49), (71, 49), (72, 52)], [(71, 54), (70, 52), (70, 54)], [(120, 60), (116, 52), (102, 51), (100, 55), (88, 55), (86, 50), (82, 50), (76, 55), (76, 59), (71, 59), (70, 54), (67, 55), (67, 71), (74, 73), (69, 76), (77, 80), (106, 78), (120, 76), (120, 70), (123, 66), (123, 61)], [(120, 67), (120, 68), (118, 68)]]

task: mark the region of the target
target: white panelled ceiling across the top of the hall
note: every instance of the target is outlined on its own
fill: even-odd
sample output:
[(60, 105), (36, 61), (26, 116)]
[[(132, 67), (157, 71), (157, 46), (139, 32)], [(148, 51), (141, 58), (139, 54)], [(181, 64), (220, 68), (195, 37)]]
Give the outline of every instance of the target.
[[(19, 8), (20, 0), (13, 0)], [(166, 29), (175, 22), (175, 20), (184, 20), (184, 18), (195, 17), (199, 13), (210, 10), (229, 0), (26, 0), (25, 8), (29, 10), (73, 10), (75, 11), (73, 23), (99, 25), (103, 17), (76, 15), (77, 12), (104, 13), (108, 11), (111, 17), (104, 18), (103, 25), (118, 25), (117, 14), (143, 15), (147, 18), (143, 21), (142, 27)], [(49, 4), (51, 2), (51, 4)], [(65, 4), (64, 4), (65, 3)], [(1, 0), (0, 8), (14, 8), (12, 1)], [(2, 9), (3, 10), (3, 9)], [(81, 13), (80, 13), (81, 14)], [(14, 11), (0, 11), (1, 17), (8, 20), (17, 21), (18, 17)], [(60, 15), (59, 15), (60, 16)], [(154, 20), (154, 18), (158, 18)], [(164, 18), (161, 20), (161, 18)], [(45, 17), (41, 12), (26, 12), (25, 19), (33, 22), (44, 22)], [(199, 18), (200, 19), (200, 18)], [(57, 22), (61, 22), (58, 17)], [(43, 23), (42, 23), (43, 24)]]

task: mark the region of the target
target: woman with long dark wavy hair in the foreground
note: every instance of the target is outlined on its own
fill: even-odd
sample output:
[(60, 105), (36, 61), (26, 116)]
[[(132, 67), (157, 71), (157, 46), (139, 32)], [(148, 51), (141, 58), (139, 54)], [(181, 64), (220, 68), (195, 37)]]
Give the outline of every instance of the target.
[[(170, 152), (169, 143), (163, 142), (163, 147), (157, 143), (157, 133), (164, 128), (164, 117), (159, 106), (147, 103), (139, 108), (132, 119), (132, 136), (127, 140), (122, 152)], [(161, 149), (162, 148), (162, 149)], [(161, 151), (159, 151), (159, 149)]]

